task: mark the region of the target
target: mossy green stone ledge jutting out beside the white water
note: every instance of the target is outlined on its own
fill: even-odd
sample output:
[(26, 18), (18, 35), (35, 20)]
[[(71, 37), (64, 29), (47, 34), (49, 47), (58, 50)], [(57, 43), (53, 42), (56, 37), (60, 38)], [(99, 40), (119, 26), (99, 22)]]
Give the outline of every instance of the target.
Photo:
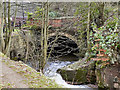
[(95, 63), (90, 61), (77, 61), (71, 65), (65, 66), (57, 70), (63, 79), (71, 84), (95, 83)]

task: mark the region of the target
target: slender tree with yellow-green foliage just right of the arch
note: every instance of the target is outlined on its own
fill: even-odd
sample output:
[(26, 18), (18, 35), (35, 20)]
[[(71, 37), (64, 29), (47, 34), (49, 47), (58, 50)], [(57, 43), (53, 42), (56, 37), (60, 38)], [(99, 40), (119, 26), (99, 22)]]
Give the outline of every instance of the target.
[(75, 21), (75, 25), (77, 26), (77, 36), (79, 43), (79, 56), (84, 57), (85, 53), (88, 56), (88, 49), (90, 48), (89, 42), (89, 32), (90, 32), (90, 24), (91, 24), (91, 7), (90, 3), (80, 2), (79, 6), (76, 8), (75, 16), (79, 16), (79, 18)]

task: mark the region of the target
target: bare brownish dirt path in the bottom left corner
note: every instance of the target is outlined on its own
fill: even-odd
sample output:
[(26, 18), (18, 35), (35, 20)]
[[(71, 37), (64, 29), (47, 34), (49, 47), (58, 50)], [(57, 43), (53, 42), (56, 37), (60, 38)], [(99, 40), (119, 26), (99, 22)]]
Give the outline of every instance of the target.
[(25, 78), (9, 68), (2, 62), (2, 58), (0, 57), (0, 82), (2, 82), (3, 85), (12, 85), (13, 88), (29, 88), (23, 80), (25, 80)]

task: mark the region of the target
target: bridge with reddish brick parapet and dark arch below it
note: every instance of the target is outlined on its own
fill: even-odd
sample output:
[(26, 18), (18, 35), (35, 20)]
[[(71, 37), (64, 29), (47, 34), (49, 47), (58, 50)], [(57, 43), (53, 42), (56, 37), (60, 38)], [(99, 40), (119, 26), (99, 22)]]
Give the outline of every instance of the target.
[[(74, 25), (78, 19), (79, 17), (74, 16), (49, 19), (48, 44), (51, 44), (51, 42), (57, 38), (53, 55), (63, 52), (64, 54), (79, 52), (77, 26)], [(42, 25), (41, 20), (36, 21), (31, 19), (30, 21), (30, 25)], [(52, 46), (52, 44), (50, 46)], [(50, 52), (50, 48), (51, 47), (48, 48), (48, 52)], [(55, 52), (57, 52), (57, 54)]]

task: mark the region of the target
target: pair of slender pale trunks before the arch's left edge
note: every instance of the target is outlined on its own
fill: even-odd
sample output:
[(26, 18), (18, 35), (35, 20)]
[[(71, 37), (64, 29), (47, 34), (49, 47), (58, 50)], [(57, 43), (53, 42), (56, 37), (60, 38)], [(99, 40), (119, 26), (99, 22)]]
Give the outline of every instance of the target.
[(49, 20), (49, 15), (48, 15), (48, 1), (43, 4), (42, 6), (42, 29), (41, 29), (41, 58), (42, 60), (40, 61), (40, 67), (43, 72), (43, 69), (45, 67), (45, 64), (47, 62), (47, 32), (48, 32), (48, 20)]

